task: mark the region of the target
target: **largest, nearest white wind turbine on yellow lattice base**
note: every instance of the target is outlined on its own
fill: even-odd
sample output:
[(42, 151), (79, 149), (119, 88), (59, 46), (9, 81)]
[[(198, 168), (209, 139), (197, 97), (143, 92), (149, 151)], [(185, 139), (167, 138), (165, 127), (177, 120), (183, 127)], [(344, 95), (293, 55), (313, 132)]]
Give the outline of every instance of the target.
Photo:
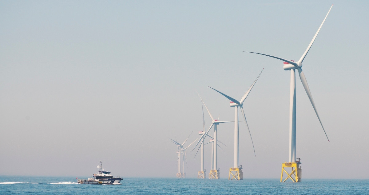
[[(282, 178), (283, 178), (283, 172), (286, 172), (286, 170), (284, 170), (284, 167), (292, 167), (293, 171), (291, 174), (293, 174), (295, 176), (295, 178), (290, 177), (290, 174), (287, 173), (289, 175), (289, 177), (287, 177), (284, 181), (286, 181), (288, 178), (292, 179), (292, 181), (294, 182), (299, 182), (301, 181), (301, 168), (299, 167), (300, 163), (300, 159), (298, 159), (296, 161), (296, 76), (295, 76), (295, 70), (297, 69), (297, 71), (299, 71), (299, 76), (300, 76), (300, 80), (302, 85), (305, 88), (306, 94), (308, 96), (308, 98), (310, 99), (311, 105), (314, 108), (315, 114), (317, 114), (318, 120), (323, 128), (324, 134), (328, 139), (327, 133), (325, 133), (323, 124), (320, 120), (320, 117), (318, 115), (317, 109), (315, 107), (314, 104), (314, 100), (313, 100), (313, 96), (311, 96), (311, 92), (309, 89), (309, 86), (307, 84), (304, 72), (302, 71), (301, 67), (302, 67), (302, 62), (304, 61), (307, 52), (310, 50), (311, 45), (313, 45), (315, 38), (318, 35), (318, 32), (320, 31), (320, 28), (322, 27), (325, 19), (327, 18), (329, 12), (331, 11), (333, 7), (333, 4), (331, 6), (331, 8), (329, 9), (327, 15), (325, 16), (323, 22), (320, 24), (320, 27), (318, 28), (318, 31), (315, 33), (313, 40), (311, 40), (310, 44), (308, 45), (306, 51), (304, 52), (304, 54), (301, 56), (301, 58), (299, 59), (299, 61), (295, 62), (293, 60), (287, 60), (287, 59), (283, 59), (283, 58), (279, 58), (279, 57), (275, 57), (272, 55), (266, 55), (266, 54), (261, 54), (261, 53), (256, 53), (256, 52), (248, 52), (248, 53), (254, 53), (254, 54), (261, 54), (261, 55), (266, 55), (272, 58), (276, 58), (276, 59), (280, 59), (283, 62), (283, 69), (286, 71), (291, 71), (291, 81), (290, 81), (290, 127), (289, 127), (289, 162), (287, 163), (283, 163), (282, 164), (282, 174), (281, 174), (281, 182), (282, 182)], [(329, 139), (328, 139), (329, 141)], [(297, 171), (296, 171), (297, 169)], [(296, 174), (295, 174), (296, 173)]]

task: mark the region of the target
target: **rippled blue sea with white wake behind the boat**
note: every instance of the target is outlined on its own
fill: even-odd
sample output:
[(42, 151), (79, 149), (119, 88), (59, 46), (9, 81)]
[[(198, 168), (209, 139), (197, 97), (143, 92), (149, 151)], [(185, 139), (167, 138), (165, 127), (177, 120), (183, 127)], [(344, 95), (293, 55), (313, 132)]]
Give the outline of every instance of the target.
[(0, 176), (0, 194), (365, 194), (369, 180), (304, 179), (178, 179), (123, 178), (120, 184), (77, 184), (71, 177)]

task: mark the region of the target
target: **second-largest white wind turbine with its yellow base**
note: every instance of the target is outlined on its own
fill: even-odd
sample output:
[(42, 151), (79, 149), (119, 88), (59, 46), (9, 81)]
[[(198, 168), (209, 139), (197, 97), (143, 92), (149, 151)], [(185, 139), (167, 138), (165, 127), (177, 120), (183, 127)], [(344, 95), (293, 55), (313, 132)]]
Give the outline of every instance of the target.
[[(264, 69), (262, 69), (262, 71), (260, 72), (259, 76), (261, 75), (261, 73), (263, 72), (263, 70)], [(230, 179), (231, 175), (232, 175), (232, 178), (231, 179), (238, 179), (238, 180), (239, 179), (242, 179), (242, 171), (241, 171), (242, 166), (238, 166), (238, 107), (241, 109), (242, 116), (244, 117), (247, 130), (249, 131), (249, 134), (250, 134), (252, 147), (254, 148), (254, 155), (256, 156), (254, 142), (252, 141), (250, 129), (249, 129), (249, 126), (247, 124), (246, 116), (245, 116), (245, 112), (244, 112), (244, 108), (242, 107), (242, 105), (244, 105), (245, 99), (249, 95), (252, 87), (254, 87), (256, 81), (258, 81), (259, 76), (258, 76), (258, 78), (256, 78), (256, 80), (254, 81), (254, 83), (252, 83), (251, 87), (246, 91), (245, 95), (242, 96), (242, 98), (241, 98), (240, 101), (238, 101), (238, 100), (236, 100), (234, 98), (231, 98), (230, 96), (225, 95), (224, 93), (222, 93), (222, 92), (220, 92), (220, 91), (218, 91), (218, 90), (210, 87), (211, 89), (214, 89), (215, 91), (219, 92), (221, 95), (223, 95), (226, 98), (228, 98), (229, 100), (231, 100), (230, 106), (231, 107), (235, 107), (235, 112), (234, 112), (235, 113), (234, 114), (234, 121), (235, 121), (235, 123), (234, 123), (234, 167), (233, 168), (230, 168), (230, 173), (229, 173), (228, 179)]]

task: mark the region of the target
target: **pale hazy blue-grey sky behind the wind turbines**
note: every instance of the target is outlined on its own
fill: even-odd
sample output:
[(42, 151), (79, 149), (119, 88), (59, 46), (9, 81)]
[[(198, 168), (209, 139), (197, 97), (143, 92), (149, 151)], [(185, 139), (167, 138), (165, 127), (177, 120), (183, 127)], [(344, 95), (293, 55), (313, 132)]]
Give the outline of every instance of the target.
[[(239, 123), (239, 164), (244, 178), (279, 178), (290, 72), (242, 51), (298, 60), (332, 3), (303, 63), (330, 142), (297, 76), (296, 157), (303, 178), (369, 178), (369, 2), (335, 0), (0, 1), (0, 175), (82, 178), (103, 161), (114, 176), (175, 177), (168, 137), (200, 137), (196, 91), (213, 116), (233, 120), (208, 86), (241, 99), (265, 68), (244, 103), (256, 157)], [(226, 178), (234, 124), (220, 124), (218, 139)], [(197, 177), (200, 156), (187, 157)]]

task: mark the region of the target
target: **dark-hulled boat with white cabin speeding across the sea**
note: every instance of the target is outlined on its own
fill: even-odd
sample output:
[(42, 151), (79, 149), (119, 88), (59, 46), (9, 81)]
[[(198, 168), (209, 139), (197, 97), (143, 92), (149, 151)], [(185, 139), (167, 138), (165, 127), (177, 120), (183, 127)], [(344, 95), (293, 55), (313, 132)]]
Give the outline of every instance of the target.
[(98, 174), (93, 174), (93, 178), (88, 179), (78, 179), (77, 182), (79, 184), (114, 184), (122, 181), (122, 178), (113, 178), (113, 175), (110, 175), (110, 171), (105, 171), (103, 169), (103, 163), (100, 161), (100, 165), (97, 166), (99, 168)]

